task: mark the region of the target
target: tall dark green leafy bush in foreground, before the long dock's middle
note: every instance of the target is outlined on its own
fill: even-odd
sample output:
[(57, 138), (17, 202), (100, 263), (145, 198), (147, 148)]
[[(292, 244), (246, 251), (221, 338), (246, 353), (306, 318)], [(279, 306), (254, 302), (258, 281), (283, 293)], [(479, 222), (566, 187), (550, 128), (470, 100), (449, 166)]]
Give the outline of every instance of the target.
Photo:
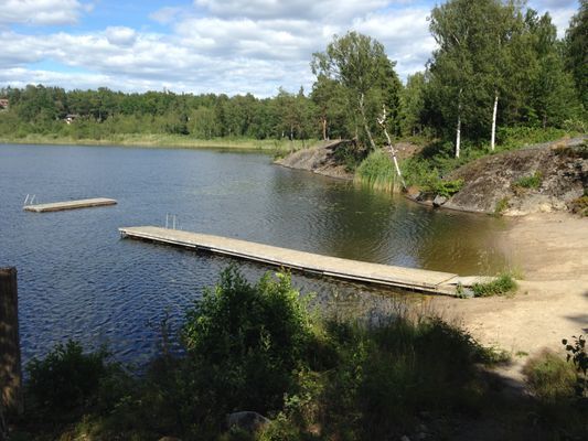
[(296, 373), (307, 366), (311, 329), (288, 276), (266, 275), (252, 286), (229, 267), (188, 312), (182, 337), (199, 404), (224, 416), (279, 409), (284, 394), (296, 389)]

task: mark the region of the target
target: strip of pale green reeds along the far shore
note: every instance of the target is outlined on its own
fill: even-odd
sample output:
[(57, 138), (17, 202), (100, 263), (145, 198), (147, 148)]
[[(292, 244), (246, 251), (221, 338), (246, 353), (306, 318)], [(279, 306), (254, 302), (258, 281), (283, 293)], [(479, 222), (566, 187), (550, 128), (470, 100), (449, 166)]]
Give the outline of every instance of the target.
[(115, 135), (108, 139), (75, 139), (51, 135), (28, 135), (24, 138), (0, 137), (4, 144), (47, 144), (47, 146), (124, 146), (170, 149), (244, 149), (264, 151), (289, 151), (310, 147), (314, 140), (290, 141), (276, 139), (214, 138), (195, 139), (178, 135)]

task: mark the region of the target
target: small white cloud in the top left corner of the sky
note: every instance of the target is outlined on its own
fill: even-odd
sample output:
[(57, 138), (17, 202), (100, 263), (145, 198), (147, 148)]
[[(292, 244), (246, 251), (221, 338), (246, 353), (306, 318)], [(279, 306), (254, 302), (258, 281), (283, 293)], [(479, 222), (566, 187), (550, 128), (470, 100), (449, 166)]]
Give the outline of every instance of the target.
[(0, 0), (0, 24), (74, 24), (84, 11), (78, 0)]

